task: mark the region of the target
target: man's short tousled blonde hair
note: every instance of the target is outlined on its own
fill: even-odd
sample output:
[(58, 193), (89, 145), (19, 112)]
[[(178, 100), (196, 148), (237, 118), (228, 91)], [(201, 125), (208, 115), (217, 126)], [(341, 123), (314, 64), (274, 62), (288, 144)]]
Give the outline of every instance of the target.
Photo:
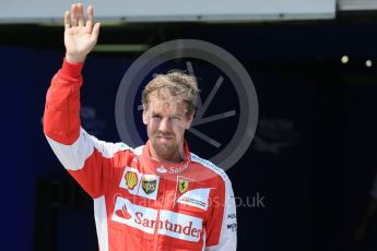
[(195, 111), (199, 88), (193, 75), (186, 74), (179, 70), (173, 70), (166, 74), (157, 74), (143, 89), (142, 104), (144, 109), (149, 107), (149, 98), (156, 92), (158, 98), (174, 97), (185, 101), (185, 113), (187, 117)]

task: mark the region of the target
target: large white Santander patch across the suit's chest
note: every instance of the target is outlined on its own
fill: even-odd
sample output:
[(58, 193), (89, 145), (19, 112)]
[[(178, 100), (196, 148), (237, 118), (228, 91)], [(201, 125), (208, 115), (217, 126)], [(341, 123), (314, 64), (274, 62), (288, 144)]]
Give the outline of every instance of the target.
[(129, 200), (117, 198), (111, 220), (138, 228), (148, 234), (198, 242), (202, 236), (202, 219), (172, 211), (157, 210), (132, 204)]

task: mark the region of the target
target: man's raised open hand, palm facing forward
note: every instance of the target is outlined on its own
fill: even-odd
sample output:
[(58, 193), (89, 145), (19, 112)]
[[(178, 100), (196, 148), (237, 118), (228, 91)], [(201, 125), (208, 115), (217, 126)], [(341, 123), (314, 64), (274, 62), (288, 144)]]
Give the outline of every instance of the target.
[[(83, 4), (71, 5), (71, 13), (64, 14), (64, 45), (66, 60), (71, 63), (83, 62), (86, 55), (91, 52), (97, 43), (99, 23), (93, 26), (93, 7), (87, 7), (87, 19), (85, 22)], [(72, 20), (71, 20), (72, 17)]]

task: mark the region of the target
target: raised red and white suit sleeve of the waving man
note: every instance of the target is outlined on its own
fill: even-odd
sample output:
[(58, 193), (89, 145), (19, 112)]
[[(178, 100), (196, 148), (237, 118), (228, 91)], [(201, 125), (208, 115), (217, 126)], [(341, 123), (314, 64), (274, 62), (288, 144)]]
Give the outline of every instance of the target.
[(44, 132), (64, 168), (92, 198), (98, 198), (105, 193), (106, 180), (116, 179), (113, 167), (126, 165), (121, 154), (129, 147), (99, 141), (81, 128), (82, 68), (83, 63), (64, 60), (52, 77), (46, 96)]

